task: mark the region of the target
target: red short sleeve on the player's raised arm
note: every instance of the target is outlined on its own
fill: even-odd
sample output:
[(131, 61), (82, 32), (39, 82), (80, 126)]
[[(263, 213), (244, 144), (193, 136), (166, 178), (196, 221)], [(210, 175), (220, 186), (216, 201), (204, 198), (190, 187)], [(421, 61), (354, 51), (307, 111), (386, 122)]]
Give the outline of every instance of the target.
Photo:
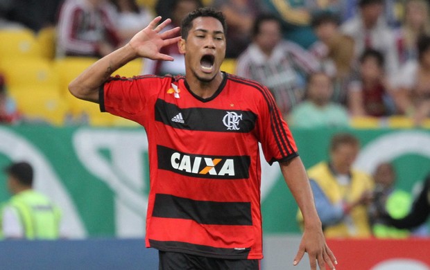
[(100, 109), (141, 123), (150, 105), (155, 104), (160, 87), (162, 79), (155, 76), (110, 78), (100, 89)]

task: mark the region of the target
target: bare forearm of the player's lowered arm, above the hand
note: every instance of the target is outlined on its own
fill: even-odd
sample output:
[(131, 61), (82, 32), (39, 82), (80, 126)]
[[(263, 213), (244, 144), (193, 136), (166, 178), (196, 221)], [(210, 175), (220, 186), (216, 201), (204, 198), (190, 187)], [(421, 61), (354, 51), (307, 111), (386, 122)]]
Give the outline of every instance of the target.
[(300, 157), (295, 157), (289, 163), (280, 163), (279, 165), (285, 182), (302, 212), (304, 228), (321, 227), (313, 202), (311, 186)]

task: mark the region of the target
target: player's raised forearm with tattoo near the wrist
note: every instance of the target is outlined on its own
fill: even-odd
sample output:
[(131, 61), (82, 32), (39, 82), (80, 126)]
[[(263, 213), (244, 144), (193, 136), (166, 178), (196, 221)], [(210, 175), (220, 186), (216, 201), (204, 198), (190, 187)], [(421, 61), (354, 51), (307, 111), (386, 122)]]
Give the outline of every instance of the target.
[(101, 58), (70, 82), (69, 91), (76, 98), (98, 102), (98, 89), (110, 75), (137, 57), (129, 44)]

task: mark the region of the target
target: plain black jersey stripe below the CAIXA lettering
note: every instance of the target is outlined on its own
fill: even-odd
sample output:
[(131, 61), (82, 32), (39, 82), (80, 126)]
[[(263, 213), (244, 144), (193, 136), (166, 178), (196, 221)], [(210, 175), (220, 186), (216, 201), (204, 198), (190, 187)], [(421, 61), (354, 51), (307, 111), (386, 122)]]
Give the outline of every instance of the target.
[(156, 194), (153, 217), (191, 219), (198, 224), (251, 226), (250, 202), (196, 201)]

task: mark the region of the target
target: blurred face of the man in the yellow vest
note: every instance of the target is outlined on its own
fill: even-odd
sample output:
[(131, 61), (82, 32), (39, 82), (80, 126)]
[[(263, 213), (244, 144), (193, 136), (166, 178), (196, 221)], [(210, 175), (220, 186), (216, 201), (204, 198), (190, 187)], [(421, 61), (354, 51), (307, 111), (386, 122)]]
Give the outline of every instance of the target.
[(341, 173), (349, 172), (357, 154), (359, 154), (359, 145), (350, 143), (338, 145), (338, 147), (331, 152), (334, 167), (340, 170), (339, 172)]

